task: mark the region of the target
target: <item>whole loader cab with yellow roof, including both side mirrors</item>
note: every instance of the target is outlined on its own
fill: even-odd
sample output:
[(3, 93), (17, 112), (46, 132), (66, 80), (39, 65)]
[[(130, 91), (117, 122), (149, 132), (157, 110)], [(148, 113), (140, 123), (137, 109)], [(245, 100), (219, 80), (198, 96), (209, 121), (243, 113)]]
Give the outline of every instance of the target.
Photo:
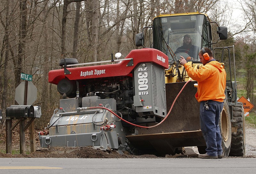
[[(199, 12), (159, 15), (153, 19), (151, 27), (137, 34), (136, 46), (160, 50), (168, 56), (169, 62), (177, 61), (180, 55), (187, 61), (200, 62), (198, 52), (201, 48), (213, 51), (211, 23), (206, 14)], [(153, 30), (153, 36), (144, 37), (143, 31), (148, 28)], [(220, 26), (218, 30), (218, 40), (227, 39), (226, 27)], [(151, 37), (153, 43), (150, 43)]]

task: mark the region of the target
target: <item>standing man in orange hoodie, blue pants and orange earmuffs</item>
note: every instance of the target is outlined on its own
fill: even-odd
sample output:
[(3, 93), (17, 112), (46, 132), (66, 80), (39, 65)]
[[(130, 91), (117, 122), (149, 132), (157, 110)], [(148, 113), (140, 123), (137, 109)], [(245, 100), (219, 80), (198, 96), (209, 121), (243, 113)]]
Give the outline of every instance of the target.
[(198, 156), (222, 158), (219, 119), (226, 97), (226, 71), (220, 62), (213, 58), (209, 48), (200, 50), (199, 58), (204, 66), (197, 69), (180, 56), (180, 64), (185, 67), (189, 77), (198, 82), (195, 97), (200, 102), (200, 125), (207, 146), (206, 154)]

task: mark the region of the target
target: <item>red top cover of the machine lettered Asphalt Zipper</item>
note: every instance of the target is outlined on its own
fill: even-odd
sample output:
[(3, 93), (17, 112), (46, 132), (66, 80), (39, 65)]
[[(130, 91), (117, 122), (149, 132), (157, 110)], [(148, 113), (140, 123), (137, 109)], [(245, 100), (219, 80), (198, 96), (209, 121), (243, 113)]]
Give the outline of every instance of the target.
[(113, 76), (132, 76), (132, 70), (141, 62), (153, 62), (168, 68), (168, 57), (161, 51), (153, 48), (132, 50), (125, 58), (133, 58), (133, 66), (126, 66), (130, 60), (118, 64), (96, 65), (88, 67), (68, 68), (71, 74), (64, 75), (64, 69), (52, 70), (48, 73), (48, 82), (58, 84), (65, 77), (69, 80), (91, 79)]

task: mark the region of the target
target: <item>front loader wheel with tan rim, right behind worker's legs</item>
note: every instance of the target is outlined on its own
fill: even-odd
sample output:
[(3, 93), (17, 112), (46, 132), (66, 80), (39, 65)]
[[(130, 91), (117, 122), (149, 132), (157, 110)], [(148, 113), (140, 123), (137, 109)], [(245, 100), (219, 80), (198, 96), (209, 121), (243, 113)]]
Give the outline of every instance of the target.
[(220, 113), (220, 134), (222, 137), (221, 147), (222, 155), (228, 156), (231, 147), (231, 121), (230, 121), (230, 112), (228, 107), (227, 99), (224, 100), (224, 105), (222, 112)]

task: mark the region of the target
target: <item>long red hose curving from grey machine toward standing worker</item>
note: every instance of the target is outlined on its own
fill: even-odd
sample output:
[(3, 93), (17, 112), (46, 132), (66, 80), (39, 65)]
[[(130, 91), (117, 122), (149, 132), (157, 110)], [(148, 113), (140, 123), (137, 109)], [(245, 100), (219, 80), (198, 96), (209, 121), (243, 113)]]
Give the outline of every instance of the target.
[(111, 112), (112, 114), (116, 115), (119, 119), (121, 119), (121, 120), (123, 120), (124, 122), (126, 122), (126, 123), (128, 123), (128, 124), (131, 124), (131, 125), (133, 125), (133, 126), (137, 126), (137, 127), (140, 127), (140, 128), (147, 128), (147, 129), (148, 129), (148, 128), (154, 128), (154, 127), (160, 125), (161, 123), (163, 123), (164, 120), (166, 120), (166, 118), (170, 115), (174, 103), (176, 102), (176, 100), (177, 100), (178, 97), (180, 96), (180, 93), (183, 91), (183, 89), (185, 88), (185, 86), (186, 86), (186, 85), (188, 84), (188, 82), (190, 82), (190, 81), (192, 81), (192, 80), (188, 80), (188, 81), (184, 84), (184, 86), (181, 88), (180, 92), (178, 93), (178, 95), (176, 96), (176, 98), (173, 100), (172, 106), (171, 106), (169, 112), (167, 113), (166, 117), (164, 117), (164, 119), (163, 119), (160, 123), (158, 123), (158, 124), (156, 124), (156, 125), (154, 125), (154, 126), (140, 126), (140, 125), (137, 125), (137, 124), (130, 123), (130, 122), (124, 120), (123, 118), (121, 118), (120, 116), (118, 116), (115, 112), (111, 111), (110, 109), (108, 109), (108, 108), (106, 108), (106, 107), (87, 107), (87, 109), (96, 109), (96, 108), (106, 109), (106, 110), (108, 110), (109, 112)]

